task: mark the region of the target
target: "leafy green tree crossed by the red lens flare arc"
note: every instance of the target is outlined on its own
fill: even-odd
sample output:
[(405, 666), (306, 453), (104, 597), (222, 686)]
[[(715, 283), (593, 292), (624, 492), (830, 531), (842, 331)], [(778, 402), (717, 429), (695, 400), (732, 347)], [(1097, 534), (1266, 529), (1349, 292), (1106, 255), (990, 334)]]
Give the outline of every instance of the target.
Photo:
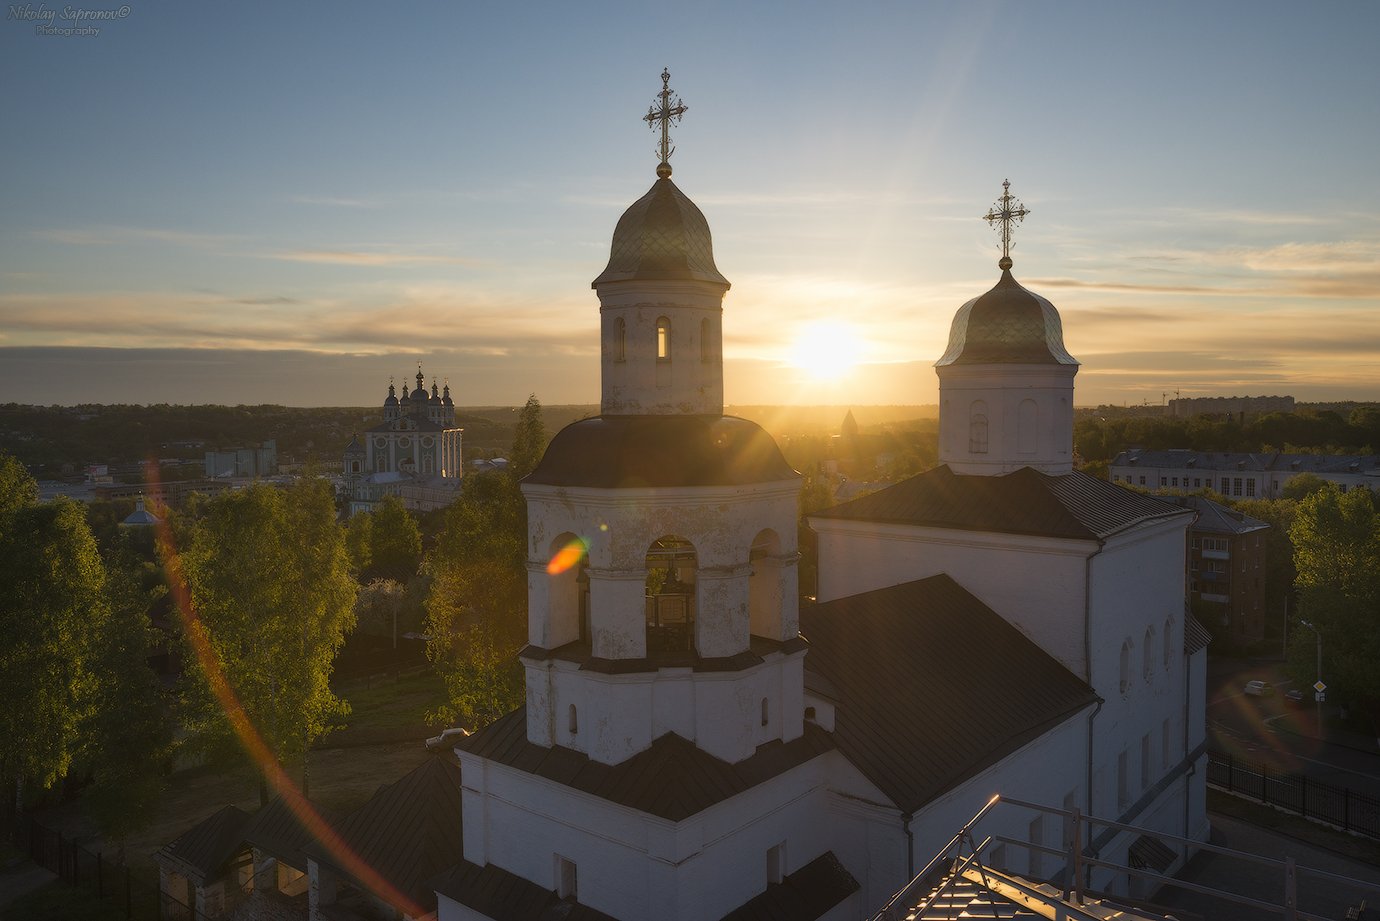
[[(222, 493), (182, 530), (188, 632), (201, 666), (193, 728), (208, 743), (233, 730), (251, 754), (257, 733), (266, 747), (258, 757), (270, 759), (259, 765), (266, 779), (349, 710), (328, 684), (357, 588), (331, 489), (301, 481)], [(236, 725), (236, 701), (250, 726)], [(266, 784), (259, 795), (266, 801)]]

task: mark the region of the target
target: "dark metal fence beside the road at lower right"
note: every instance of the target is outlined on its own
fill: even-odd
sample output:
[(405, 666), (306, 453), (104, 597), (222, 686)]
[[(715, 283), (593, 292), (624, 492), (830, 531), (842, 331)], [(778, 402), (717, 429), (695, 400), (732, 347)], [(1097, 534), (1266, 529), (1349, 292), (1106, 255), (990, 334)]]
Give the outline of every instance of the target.
[(1348, 787), (1308, 780), (1299, 773), (1210, 750), (1208, 783), (1344, 831), (1380, 838), (1380, 798)]

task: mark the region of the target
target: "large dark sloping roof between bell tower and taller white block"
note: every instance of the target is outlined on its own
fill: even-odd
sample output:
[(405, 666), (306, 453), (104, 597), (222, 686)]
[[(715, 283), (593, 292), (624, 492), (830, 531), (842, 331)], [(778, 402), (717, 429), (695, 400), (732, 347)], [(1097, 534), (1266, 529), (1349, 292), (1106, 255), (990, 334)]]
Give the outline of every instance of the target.
[(948, 576), (803, 608), (800, 632), (839, 692), (835, 744), (903, 812), (1098, 699)]

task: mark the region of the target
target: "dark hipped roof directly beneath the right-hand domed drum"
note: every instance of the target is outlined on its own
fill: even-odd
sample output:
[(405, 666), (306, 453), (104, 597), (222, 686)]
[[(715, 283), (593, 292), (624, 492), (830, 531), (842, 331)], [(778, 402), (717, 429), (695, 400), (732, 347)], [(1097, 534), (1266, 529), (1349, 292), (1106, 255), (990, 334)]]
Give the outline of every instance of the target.
[(1098, 540), (1176, 515), (1192, 512), (1086, 474), (978, 476), (943, 465), (811, 518)]

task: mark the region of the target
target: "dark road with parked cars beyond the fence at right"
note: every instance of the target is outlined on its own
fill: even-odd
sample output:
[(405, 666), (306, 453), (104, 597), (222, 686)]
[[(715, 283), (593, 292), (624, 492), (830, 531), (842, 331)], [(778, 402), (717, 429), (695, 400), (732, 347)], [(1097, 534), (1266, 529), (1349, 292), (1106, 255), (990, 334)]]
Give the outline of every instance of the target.
[[(1253, 678), (1270, 681), (1275, 685), (1275, 695), (1246, 695), (1246, 682)], [(1333, 732), (1328, 740), (1319, 739), (1312, 688), (1304, 689), (1304, 701), (1294, 703), (1283, 696), (1292, 686), (1278, 664), (1209, 660), (1209, 746), (1264, 762), (1271, 769), (1303, 773), (1310, 780), (1380, 798), (1380, 748), (1376, 740), (1340, 732)], [(1330, 718), (1333, 710), (1325, 714)]]

